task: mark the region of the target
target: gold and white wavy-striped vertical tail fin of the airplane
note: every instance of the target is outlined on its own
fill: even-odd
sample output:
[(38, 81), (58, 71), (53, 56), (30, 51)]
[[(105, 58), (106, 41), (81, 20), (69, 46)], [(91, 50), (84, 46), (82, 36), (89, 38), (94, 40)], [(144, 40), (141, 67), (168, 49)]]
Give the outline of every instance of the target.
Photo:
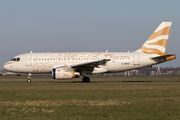
[(162, 22), (137, 52), (163, 54), (169, 37), (172, 22)]

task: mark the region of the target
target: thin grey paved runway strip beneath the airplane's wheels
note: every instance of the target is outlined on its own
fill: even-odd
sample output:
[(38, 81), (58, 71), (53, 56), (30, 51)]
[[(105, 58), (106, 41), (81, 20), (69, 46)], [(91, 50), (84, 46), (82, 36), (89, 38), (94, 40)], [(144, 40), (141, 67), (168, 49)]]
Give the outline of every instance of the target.
[(80, 82), (76, 82), (76, 83), (0, 83), (0, 85), (35, 85), (35, 84), (39, 84), (39, 85), (55, 85), (55, 84), (87, 84), (87, 85), (92, 85), (92, 84), (180, 84), (180, 82), (90, 82), (90, 83), (80, 83)]

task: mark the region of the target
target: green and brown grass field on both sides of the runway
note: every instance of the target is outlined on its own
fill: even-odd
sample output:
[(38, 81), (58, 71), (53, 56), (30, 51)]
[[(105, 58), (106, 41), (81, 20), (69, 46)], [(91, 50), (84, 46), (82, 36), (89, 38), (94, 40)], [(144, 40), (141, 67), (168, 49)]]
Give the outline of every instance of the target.
[[(154, 76), (157, 81), (168, 81), (166, 78), (179, 79)], [(1, 82), (7, 82), (5, 79), (19, 82), (24, 76), (14, 81), (11, 77), (0, 77)], [(45, 78), (34, 77), (33, 82), (36, 79), (40, 82)], [(116, 77), (94, 79), (97, 80), (92, 82), (118, 81)], [(120, 81), (129, 81), (129, 77), (120, 77)], [(178, 120), (180, 84), (0, 84), (0, 119)]]

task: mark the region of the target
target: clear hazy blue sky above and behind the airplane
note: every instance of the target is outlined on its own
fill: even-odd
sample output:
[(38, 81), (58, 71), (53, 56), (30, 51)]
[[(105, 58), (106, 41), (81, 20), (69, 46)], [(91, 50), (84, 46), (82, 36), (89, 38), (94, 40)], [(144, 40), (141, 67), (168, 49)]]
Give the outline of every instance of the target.
[(172, 21), (166, 53), (180, 67), (179, 0), (1, 0), (0, 69), (33, 52), (127, 52), (139, 49), (163, 21)]

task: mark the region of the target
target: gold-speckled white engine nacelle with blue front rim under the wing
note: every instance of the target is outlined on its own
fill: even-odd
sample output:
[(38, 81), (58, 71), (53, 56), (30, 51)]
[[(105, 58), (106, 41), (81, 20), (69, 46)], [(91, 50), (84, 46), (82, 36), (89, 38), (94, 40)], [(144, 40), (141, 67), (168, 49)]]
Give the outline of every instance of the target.
[(60, 67), (54, 68), (52, 70), (53, 79), (71, 79), (77, 78), (80, 76), (80, 73), (75, 72), (74, 69), (70, 67)]

